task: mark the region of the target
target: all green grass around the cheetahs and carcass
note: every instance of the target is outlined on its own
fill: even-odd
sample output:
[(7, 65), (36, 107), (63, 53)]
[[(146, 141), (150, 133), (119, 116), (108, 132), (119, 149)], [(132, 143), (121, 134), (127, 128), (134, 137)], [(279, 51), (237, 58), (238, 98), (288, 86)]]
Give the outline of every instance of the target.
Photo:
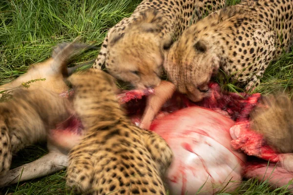
[[(130, 16), (140, 0), (1, 0), (0, 1), (0, 84), (25, 73), (28, 65), (50, 57), (52, 47), (77, 36), (90, 44), (100, 45), (107, 29)], [(229, 0), (235, 4), (239, 0)], [(79, 61), (96, 58), (99, 51), (88, 52)], [(293, 52), (272, 62), (256, 92), (269, 94), (293, 89)], [(230, 91), (232, 83), (221, 85)], [(237, 90), (236, 90), (237, 91)], [(13, 159), (13, 167), (46, 154), (44, 144), (22, 150)], [(70, 194), (65, 191), (65, 172), (45, 176), (0, 189), (0, 194), (44, 195)], [(282, 194), (286, 189), (270, 191), (269, 184), (245, 181), (232, 194)], [(224, 193), (222, 193), (224, 194)]]

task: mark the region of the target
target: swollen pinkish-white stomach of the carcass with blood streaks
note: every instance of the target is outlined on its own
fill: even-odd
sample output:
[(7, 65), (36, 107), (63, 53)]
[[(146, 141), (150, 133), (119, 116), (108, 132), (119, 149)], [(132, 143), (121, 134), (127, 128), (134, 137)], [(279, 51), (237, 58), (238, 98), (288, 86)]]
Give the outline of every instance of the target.
[(153, 121), (151, 130), (162, 136), (174, 153), (167, 173), (172, 195), (195, 195), (202, 185), (201, 194), (212, 195), (239, 185), (227, 183), (241, 180), (246, 160), (230, 147), (233, 124), (229, 117), (197, 106)]

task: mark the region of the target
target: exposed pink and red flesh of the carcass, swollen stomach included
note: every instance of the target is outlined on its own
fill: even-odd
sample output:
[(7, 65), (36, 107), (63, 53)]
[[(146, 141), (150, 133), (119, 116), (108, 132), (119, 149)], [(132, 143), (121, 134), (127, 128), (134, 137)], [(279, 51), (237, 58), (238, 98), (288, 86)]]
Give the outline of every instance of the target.
[[(211, 83), (209, 87), (210, 98), (196, 104), (185, 96), (174, 93), (150, 125), (152, 131), (166, 139), (175, 155), (167, 174), (173, 194), (186, 191), (194, 194), (207, 180), (207, 176), (209, 178), (202, 189), (209, 190), (206, 194), (217, 191), (208, 189), (212, 183), (228, 181), (231, 176), (231, 180), (240, 180), (245, 156), (236, 152), (237, 150), (273, 162), (280, 160), (283, 167), (279, 166), (274, 174), (279, 177), (285, 175), (276, 186), (280, 187), (288, 182), (290, 174), (292, 178), (291, 158), (284, 160), (284, 157), (280, 157), (265, 143), (262, 135), (249, 129), (249, 113), (258, 104), (260, 94), (241, 94), (243, 99), (235, 93), (222, 93), (217, 84)], [(73, 92), (70, 93), (72, 95)], [(118, 95), (119, 102), (124, 104), (127, 114), (136, 125), (141, 123), (146, 97), (150, 94), (156, 94), (156, 91), (131, 90)], [(67, 96), (68, 92), (63, 94), (63, 97)], [(59, 127), (59, 130), (54, 131), (55, 141), (63, 147), (72, 147), (72, 144), (66, 144), (71, 138), (72, 143), (78, 143), (81, 134), (77, 129), (80, 129), (80, 125)], [(263, 170), (263, 164), (259, 162), (257, 166), (249, 165), (245, 176), (258, 178), (264, 176)], [(233, 187), (230, 188), (232, 189)]]

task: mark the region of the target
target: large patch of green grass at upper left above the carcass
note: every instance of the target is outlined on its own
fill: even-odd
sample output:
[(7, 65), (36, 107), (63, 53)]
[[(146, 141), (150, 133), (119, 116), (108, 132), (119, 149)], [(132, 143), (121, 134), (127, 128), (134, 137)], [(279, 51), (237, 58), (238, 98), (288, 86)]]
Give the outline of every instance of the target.
[[(5, 0), (0, 3), (0, 84), (81, 36), (100, 45), (107, 29), (130, 16), (140, 0)], [(98, 51), (85, 59), (94, 59)]]

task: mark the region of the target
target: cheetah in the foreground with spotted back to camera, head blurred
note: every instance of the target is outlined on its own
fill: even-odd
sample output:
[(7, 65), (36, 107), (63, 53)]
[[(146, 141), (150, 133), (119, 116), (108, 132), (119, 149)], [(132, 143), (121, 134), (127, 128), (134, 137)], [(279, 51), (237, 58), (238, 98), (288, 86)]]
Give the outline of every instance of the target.
[(165, 195), (164, 173), (173, 153), (159, 135), (131, 123), (114, 78), (90, 69), (68, 78), (84, 137), (69, 153), (66, 185), (88, 194)]

